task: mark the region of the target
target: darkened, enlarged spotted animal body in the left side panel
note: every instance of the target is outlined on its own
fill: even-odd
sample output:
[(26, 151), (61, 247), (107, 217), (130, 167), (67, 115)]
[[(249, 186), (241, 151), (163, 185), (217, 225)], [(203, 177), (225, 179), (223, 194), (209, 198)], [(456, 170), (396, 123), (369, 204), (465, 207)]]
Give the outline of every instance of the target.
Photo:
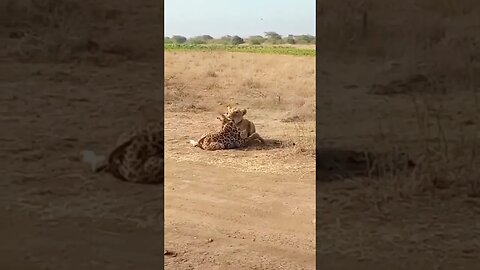
[(158, 184), (163, 182), (163, 125), (148, 123), (125, 133), (110, 152), (104, 170), (126, 182)]

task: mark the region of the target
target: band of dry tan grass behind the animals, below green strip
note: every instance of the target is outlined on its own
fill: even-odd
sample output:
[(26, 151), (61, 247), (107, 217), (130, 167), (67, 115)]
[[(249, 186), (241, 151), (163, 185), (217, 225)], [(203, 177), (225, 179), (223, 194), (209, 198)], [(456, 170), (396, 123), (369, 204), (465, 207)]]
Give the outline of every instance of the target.
[(165, 101), (170, 110), (182, 102), (201, 103), (209, 110), (233, 102), (284, 112), (285, 117), (315, 119), (314, 59), (198, 52), (167, 53), (165, 62)]

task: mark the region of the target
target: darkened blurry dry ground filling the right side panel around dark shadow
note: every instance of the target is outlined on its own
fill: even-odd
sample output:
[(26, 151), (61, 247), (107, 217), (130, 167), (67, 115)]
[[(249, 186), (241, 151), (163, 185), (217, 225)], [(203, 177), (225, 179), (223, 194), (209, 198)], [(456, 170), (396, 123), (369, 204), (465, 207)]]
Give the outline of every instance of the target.
[[(471, 216), (480, 203), (474, 4), (321, 2), (321, 144), (404, 152), (416, 162), (413, 170), (319, 183), (321, 252), (413, 257), (429, 267), (446, 254), (457, 263), (447, 268), (471, 261), (464, 250), (478, 249)], [(393, 164), (389, 157), (380, 162)]]

